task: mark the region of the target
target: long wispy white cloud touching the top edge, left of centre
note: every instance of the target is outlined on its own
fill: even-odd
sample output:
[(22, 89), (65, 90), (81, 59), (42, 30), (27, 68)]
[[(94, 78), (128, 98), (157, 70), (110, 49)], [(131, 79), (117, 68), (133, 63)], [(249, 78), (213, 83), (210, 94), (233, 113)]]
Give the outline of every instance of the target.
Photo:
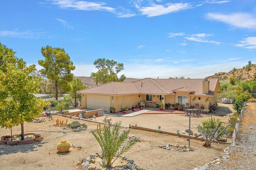
[(88, 2), (79, 0), (54, 0), (53, 4), (60, 6), (60, 8), (73, 9), (73, 10), (85, 10), (85, 11), (108, 11), (114, 12), (115, 8), (104, 6), (103, 2)]

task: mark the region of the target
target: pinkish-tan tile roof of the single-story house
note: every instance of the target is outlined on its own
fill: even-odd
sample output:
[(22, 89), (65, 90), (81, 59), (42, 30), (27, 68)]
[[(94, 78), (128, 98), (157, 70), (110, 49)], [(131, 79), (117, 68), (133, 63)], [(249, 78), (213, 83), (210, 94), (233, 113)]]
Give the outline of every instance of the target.
[[(130, 79), (131, 80), (131, 79)], [(214, 91), (220, 85), (218, 79), (208, 79), (210, 81), (210, 90), (208, 93), (202, 92), (204, 79), (133, 79), (132, 82), (108, 82), (84, 90), (78, 93), (86, 94), (105, 94), (105, 95), (126, 95), (126, 94), (174, 94), (177, 91), (191, 92), (194, 95), (213, 96)]]

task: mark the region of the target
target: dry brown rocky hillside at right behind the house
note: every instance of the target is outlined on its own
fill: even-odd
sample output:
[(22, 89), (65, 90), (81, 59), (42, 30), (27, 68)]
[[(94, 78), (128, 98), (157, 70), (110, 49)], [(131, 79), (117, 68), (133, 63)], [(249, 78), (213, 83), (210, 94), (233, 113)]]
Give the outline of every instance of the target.
[(212, 76), (208, 76), (207, 78), (218, 78), (219, 80), (229, 80), (231, 76), (235, 78), (239, 78), (240, 81), (244, 80), (253, 80), (254, 74), (256, 74), (256, 64), (251, 64), (250, 69), (248, 69), (248, 65), (243, 68), (234, 68), (229, 72), (219, 72), (215, 73)]

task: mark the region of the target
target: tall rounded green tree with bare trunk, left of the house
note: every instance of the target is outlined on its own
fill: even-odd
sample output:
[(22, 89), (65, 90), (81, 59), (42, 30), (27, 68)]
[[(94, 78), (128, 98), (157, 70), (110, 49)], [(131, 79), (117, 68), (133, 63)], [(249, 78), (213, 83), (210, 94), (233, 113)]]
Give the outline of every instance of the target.
[(64, 49), (52, 48), (47, 45), (42, 47), (41, 53), (45, 60), (38, 61), (38, 64), (44, 67), (40, 72), (54, 82), (55, 99), (58, 100), (58, 87), (61, 87), (65, 92), (71, 90), (68, 82), (73, 80), (71, 71), (76, 67), (73, 66), (73, 62), (70, 61), (70, 57)]

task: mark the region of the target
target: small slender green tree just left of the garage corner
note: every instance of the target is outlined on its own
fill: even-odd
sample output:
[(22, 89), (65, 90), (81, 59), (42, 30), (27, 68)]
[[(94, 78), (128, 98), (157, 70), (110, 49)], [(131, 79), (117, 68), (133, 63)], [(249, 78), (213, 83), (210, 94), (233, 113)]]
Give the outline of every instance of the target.
[(78, 90), (82, 90), (86, 88), (86, 86), (82, 83), (81, 79), (75, 78), (72, 82), (70, 82), (72, 90), (68, 93), (73, 99), (81, 98), (81, 94), (76, 93)]

